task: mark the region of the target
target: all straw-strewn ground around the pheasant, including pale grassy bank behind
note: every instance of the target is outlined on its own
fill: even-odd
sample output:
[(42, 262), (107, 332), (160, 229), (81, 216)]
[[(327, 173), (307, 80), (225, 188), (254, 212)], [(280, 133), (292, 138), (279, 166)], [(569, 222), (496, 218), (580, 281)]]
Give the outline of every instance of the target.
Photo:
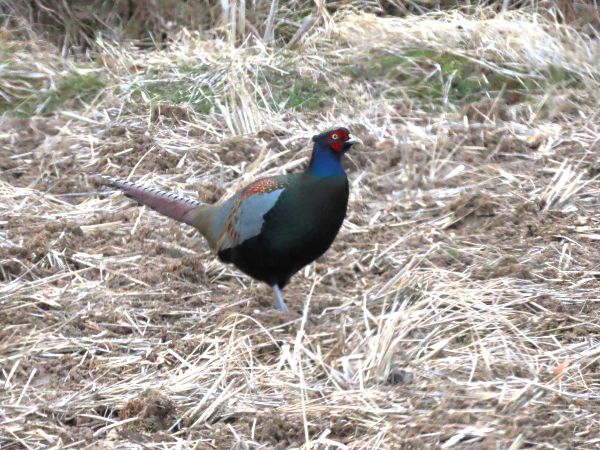
[[(2, 449), (597, 448), (600, 43), (545, 11), (85, 60), (6, 22)], [(338, 124), (349, 214), (290, 315), (86, 176), (215, 202)]]

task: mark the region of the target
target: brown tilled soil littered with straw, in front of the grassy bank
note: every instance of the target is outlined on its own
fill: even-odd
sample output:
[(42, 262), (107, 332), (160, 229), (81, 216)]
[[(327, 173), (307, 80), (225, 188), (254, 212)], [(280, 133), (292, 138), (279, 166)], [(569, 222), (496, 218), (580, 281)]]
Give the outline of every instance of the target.
[(598, 448), (600, 121), (578, 95), (340, 113), (365, 143), (348, 214), (289, 314), (89, 173), (216, 202), (302, 170), (328, 121), (3, 118), (2, 449)]

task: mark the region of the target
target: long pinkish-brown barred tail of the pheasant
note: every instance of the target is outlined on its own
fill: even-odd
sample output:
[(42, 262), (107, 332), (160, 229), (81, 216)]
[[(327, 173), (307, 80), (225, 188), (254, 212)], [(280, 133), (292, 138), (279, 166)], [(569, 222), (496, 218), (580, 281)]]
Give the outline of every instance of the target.
[(160, 212), (160, 214), (187, 223), (188, 225), (194, 225), (194, 220), (196, 219), (196, 215), (190, 214), (190, 212), (199, 206), (203, 206), (203, 203), (200, 203), (197, 200), (178, 196), (172, 192), (145, 187), (130, 181), (125, 181), (124, 179), (100, 175), (100, 173), (96, 173), (95, 176), (103, 178), (105, 180), (103, 181), (104, 185), (123, 191), (125, 195), (136, 200), (136, 202), (142, 203), (142, 205), (146, 205), (149, 208)]

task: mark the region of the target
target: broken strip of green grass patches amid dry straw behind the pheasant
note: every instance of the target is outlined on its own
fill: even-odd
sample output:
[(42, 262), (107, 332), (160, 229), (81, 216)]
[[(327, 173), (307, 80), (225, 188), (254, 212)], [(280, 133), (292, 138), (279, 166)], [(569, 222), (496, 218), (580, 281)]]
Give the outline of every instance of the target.
[[(10, 53), (7, 49), (3, 53), (7, 58), (5, 68), (10, 68)], [(258, 67), (254, 73), (248, 73), (258, 86), (269, 86), (269, 95), (264, 97), (270, 103), (269, 107), (316, 111), (329, 106), (336, 95), (344, 94), (343, 83), (340, 87), (328, 80), (304, 77), (299, 67), (283, 61), (276, 69)], [(465, 56), (428, 49), (408, 50), (403, 55), (374, 53), (368, 61), (356, 64), (345, 64), (339, 60), (330, 63), (340, 73), (340, 81), (370, 80), (374, 98), (410, 98), (421, 104), (423, 109), (448, 109), (448, 104), (460, 106), (493, 97), (500, 91), (518, 91), (523, 95), (527, 91), (551, 86), (577, 88), (581, 85), (577, 74), (562, 67), (549, 65), (537, 68), (533, 74), (519, 74), (509, 67), (506, 70), (491, 69)], [(128, 102), (136, 105), (142, 102), (150, 108), (157, 101), (190, 103), (197, 113), (208, 115), (217, 100), (225, 95), (221, 83), (208, 85), (203, 81), (206, 77), (202, 75), (215, 70), (206, 64), (187, 64), (176, 71), (149, 70), (125, 88), (124, 85), (111, 84), (111, 76), (106, 69), (85, 74), (83, 71), (61, 74), (52, 82), (29, 76), (26, 71), (12, 71), (8, 77), (11, 89), (5, 90), (5, 95), (0, 97), (0, 113), (11, 116), (44, 115), (67, 107), (67, 103), (71, 110), (78, 109), (78, 105), (83, 109), (102, 94), (102, 89), (110, 91), (114, 88), (121, 92), (131, 91)], [(256, 97), (259, 106), (264, 106), (262, 98)]]

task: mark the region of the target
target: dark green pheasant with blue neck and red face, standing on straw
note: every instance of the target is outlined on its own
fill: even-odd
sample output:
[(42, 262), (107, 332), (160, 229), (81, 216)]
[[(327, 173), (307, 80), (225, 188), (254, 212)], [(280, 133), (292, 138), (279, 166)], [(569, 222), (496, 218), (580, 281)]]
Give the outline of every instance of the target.
[(317, 134), (313, 142), (305, 172), (259, 179), (219, 205), (98, 176), (137, 202), (195, 227), (221, 261), (271, 286), (273, 306), (287, 311), (280, 289), (334, 241), (349, 195), (341, 157), (362, 144), (343, 127)]

